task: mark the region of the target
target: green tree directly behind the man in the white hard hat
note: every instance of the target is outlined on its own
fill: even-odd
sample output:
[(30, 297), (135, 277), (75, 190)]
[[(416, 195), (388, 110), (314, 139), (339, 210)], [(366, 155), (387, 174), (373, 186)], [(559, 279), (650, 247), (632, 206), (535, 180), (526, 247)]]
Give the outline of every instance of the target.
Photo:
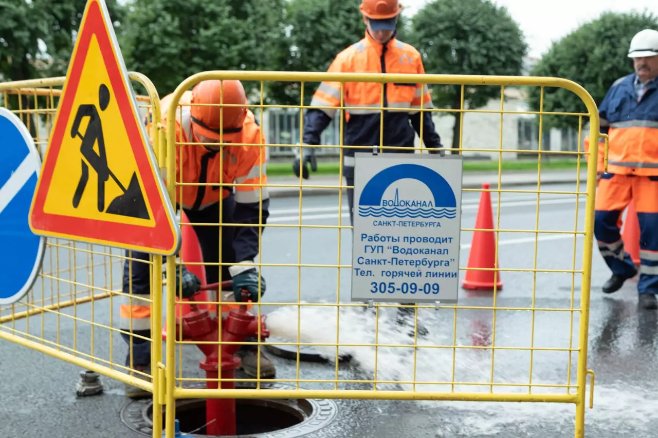
[[(604, 12), (553, 43), (530, 74), (572, 80), (598, 105), (615, 80), (633, 72), (628, 46), (632, 37), (646, 28), (658, 28), (653, 14)], [(532, 87), (528, 93), (530, 109), (540, 110), (541, 89)], [(563, 88), (546, 88), (543, 106), (549, 112), (587, 112), (580, 97)], [(544, 128), (578, 128), (578, 123), (575, 116), (544, 116)]]

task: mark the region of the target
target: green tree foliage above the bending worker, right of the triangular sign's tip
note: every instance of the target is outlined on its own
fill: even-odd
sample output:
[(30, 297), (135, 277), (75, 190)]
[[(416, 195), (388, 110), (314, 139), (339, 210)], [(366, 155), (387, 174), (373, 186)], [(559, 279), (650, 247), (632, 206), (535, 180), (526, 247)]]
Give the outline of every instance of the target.
[(198, 72), (269, 70), (284, 37), (284, 1), (134, 1), (120, 37), (126, 66), (161, 97)]

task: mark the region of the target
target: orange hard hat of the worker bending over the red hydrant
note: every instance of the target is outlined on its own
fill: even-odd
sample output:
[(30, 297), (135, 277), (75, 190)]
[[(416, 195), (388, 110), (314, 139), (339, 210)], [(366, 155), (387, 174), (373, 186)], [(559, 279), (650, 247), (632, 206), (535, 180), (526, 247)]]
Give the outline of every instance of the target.
[[(211, 139), (220, 140), (222, 131), (224, 134), (239, 132), (247, 116), (247, 95), (238, 80), (199, 82), (192, 89), (190, 104), (190, 116), (197, 131)], [(224, 104), (245, 106), (225, 107)]]

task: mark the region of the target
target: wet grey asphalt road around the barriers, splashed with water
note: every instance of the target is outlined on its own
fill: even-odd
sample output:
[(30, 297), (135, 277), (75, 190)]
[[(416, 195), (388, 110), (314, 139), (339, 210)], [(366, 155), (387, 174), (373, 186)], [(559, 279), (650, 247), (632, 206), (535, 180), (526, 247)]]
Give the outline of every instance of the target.
[[(535, 187), (519, 187), (532, 190)], [(573, 190), (574, 185), (552, 185), (545, 190)], [(496, 199), (493, 194), (494, 222), (497, 221)], [(463, 228), (473, 228), (479, 193), (465, 193), (463, 201)], [(503, 193), (499, 228), (507, 230), (534, 230), (536, 226), (536, 195)], [(344, 199), (346, 205), (347, 199)], [(275, 199), (272, 201), (270, 224), (296, 224), (297, 199)], [(574, 230), (576, 202), (572, 195), (542, 195), (539, 230)], [(305, 224), (335, 225), (338, 223), (338, 197), (309, 197), (303, 208)], [(583, 228), (584, 202), (578, 209), (578, 230)], [(347, 210), (342, 220), (349, 224)], [(305, 229), (301, 231), (301, 262), (305, 264), (338, 264), (339, 248), (336, 229)], [(297, 263), (299, 229), (268, 228), (263, 240), (263, 262)], [(501, 233), (499, 236), (499, 263), (501, 268), (533, 268), (535, 263), (535, 235), (532, 233)], [(470, 249), (470, 233), (461, 235), (462, 252), (460, 266), (466, 266)], [(574, 239), (570, 235), (540, 235), (538, 242), (537, 269), (572, 270), (574, 265)], [(340, 241), (340, 264), (351, 260), (351, 231), (343, 230)], [(99, 264), (100, 256), (94, 256)], [(61, 249), (60, 259), (46, 256), (44, 272), (70, 266), (68, 251)], [(582, 238), (576, 240), (576, 270), (582, 264)], [(89, 264), (86, 256), (76, 260), (76, 281), (88, 283), (82, 277), (84, 266)], [(56, 266), (57, 265), (57, 266)], [(303, 268), (301, 284), (298, 286), (298, 268), (266, 266), (263, 275), (267, 281), (264, 302), (296, 302), (298, 293), (301, 301), (336, 302), (338, 283), (337, 268)], [(464, 272), (461, 272), (464, 275)], [(535, 295), (537, 308), (568, 309), (571, 301), (572, 275), (552, 272), (502, 272), (503, 290), (497, 296), (497, 306), (519, 308), (532, 306)], [(60, 274), (64, 276), (64, 274)], [(103, 268), (94, 270), (95, 284), (105, 284), (105, 276), (114, 279), (114, 287), (120, 282), (120, 264), (113, 265), (113, 272)], [(657, 320), (656, 312), (636, 308), (636, 280), (624, 285), (611, 297), (603, 297), (601, 285), (609, 276), (603, 259), (594, 251), (592, 262), (592, 304), (590, 315), (590, 337), (588, 368), (596, 373), (594, 409), (586, 411), (586, 436), (607, 438), (618, 436), (653, 437), (652, 429), (658, 420), (658, 401), (655, 397), (658, 384), (654, 376), (656, 364)], [(340, 272), (340, 299), (349, 301), (349, 270)], [(578, 307), (580, 279), (576, 276), (574, 307)], [(49, 287), (46, 284), (46, 287)], [(60, 287), (68, 287), (60, 283)], [(72, 286), (71, 286), (72, 287)], [(66, 289), (68, 291), (68, 289)], [(63, 291), (61, 291), (63, 293)], [(99, 291), (97, 291), (99, 293)], [(490, 306), (491, 293), (474, 295), (461, 290), (459, 304)], [(111, 305), (110, 305), (111, 304)], [(118, 324), (118, 300), (99, 301), (93, 306), (93, 319), (99, 324)], [(264, 307), (266, 309), (266, 307)], [(265, 311), (272, 311), (267, 309)], [(92, 306), (83, 304), (76, 309), (64, 310), (76, 314), (81, 320), (91, 319)], [(345, 311), (345, 313), (349, 313)], [(6, 312), (0, 313), (4, 316)], [(320, 329), (333, 328), (335, 332), (335, 310), (317, 310), (307, 314), (303, 320), (304, 330), (313, 331), (315, 322)], [(419, 310), (419, 319), (430, 329), (428, 345), (452, 345), (453, 326), (457, 327), (457, 345), (489, 346), (495, 341), (497, 347), (569, 347), (569, 312), (533, 312), (500, 310), (496, 312), (495, 339), (493, 338), (493, 312), (491, 310), (461, 310), (457, 324), (453, 322), (453, 310)], [(332, 319), (333, 318), (333, 319)], [(361, 314), (359, 320), (345, 316), (341, 322), (341, 339), (358, 340), (359, 329), (364, 324), (374, 324), (369, 314)], [(310, 321), (309, 321), (310, 320)], [(314, 321), (315, 320), (315, 321)], [(30, 318), (30, 333), (41, 335), (41, 316)], [(43, 337), (57, 341), (57, 317), (43, 317)], [(25, 329), (25, 321), (16, 322), (16, 329)], [(332, 324), (334, 324), (332, 326)], [(7, 325), (5, 325), (7, 326)], [(11, 327), (11, 324), (9, 324)], [(290, 329), (290, 327), (288, 327)], [(395, 324), (380, 321), (381, 343), (400, 343), (407, 339)], [(577, 347), (578, 317), (573, 323), (573, 344)], [(59, 318), (59, 343), (73, 346), (74, 326), (67, 318)], [(90, 353), (91, 328), (80, 321), (76, 327), (76, 349)], [(309, 333), (313, 335), (313, 333)], [(316, 337), (318, 333), (315, 333)], [(388, 336), (388, 339), (386, 338)], [(347, 338), (346, 338), (347, 337)], [(334, 335), (335, 339), (335, 335)], [(363, 339), (361, 340), (363, 341)], [(419, 342), (420, 343), (420, 342)], [(97, 327), (93, 336), (93, 355), (109, 359), (112, 345), (112, 360), (122, 363), (124, 344), (120, 337), (109, 335), (107, 329)], [(351, 349), (355, 360), (342, 364), (340, 379), (355, 379), (372, 372), (372, 356), (368, 352)], [(200, 377), (198, 368), (200, 353), (195, 347), (184, 350), (184, 377)], [(271, 356), (271, 355), (270, 355)], [(380, 379), (407, 380), (413, 377), (413, 357), (409, 354), (392, 353), (392, 349), (380, 349), (378, 356)], [(417, 356), (417, 381), (451, 381), (452, 350), (437, 351), (419, 349)], [(278, 377), (294, 378), (295, 363), (274, 357)], [(393, 362), (399, 361), (397, 364)], [(489, 382), (492, 376), (492, 357), (485, 350), (457, 350), (455, 353), (455, 381)], [(571, 383), (575, 380), (575, 361), (572, 360)], [(496, 350), (493, 360), (493, 381), (499, 383), (528, 383), (530, 376), (530, 353), (528, 351)], [(535, 384), (566, 384), (568, 354), (555, 351), (536, 351), (532, 357), (532, 381)], [(143, 437), (122, 424), (119, 411), (127, 404), (122, 394), (122, 383), (103, 377), (105, 393), (99, 397), (76, 399), (74, 386), (80, 369), (61, 360), (30, 351), (24, 347), (0, 341), (0, 436), (19, 437)], [(305, 379), (334, 378), (334, 365), (322, 363), (302, 364), (300, 377)], [(305, 383), (305, 387), (332, 387)], [(365, 385), (341, 385), (341, 389), (361, 389)], [(394, 385), (378, 387), (395, 388)], [(397, 388), (399, 389), (399, 388)], [(436, 391), (447, 391), (449, 386), (437, 385)], [(488, 391), (457, 385), (455, 391)], [(528, 391), (524, 387), (495, 387), (494, 391)], [(427, 391), (428, 389), (421, 389)], [(533, 391), (555, 392), (556, 389), (533, 387)], [(563, 389), (561, 389), (563, 391)], [(507, 438), (542, 437), (557, 438), (573, 436), (573, 405), (546, 403), (490, 403), (490, 402), (392, 402), (392, 401), (336, 401), (337, 418), (313, 437), (495, 437)]]

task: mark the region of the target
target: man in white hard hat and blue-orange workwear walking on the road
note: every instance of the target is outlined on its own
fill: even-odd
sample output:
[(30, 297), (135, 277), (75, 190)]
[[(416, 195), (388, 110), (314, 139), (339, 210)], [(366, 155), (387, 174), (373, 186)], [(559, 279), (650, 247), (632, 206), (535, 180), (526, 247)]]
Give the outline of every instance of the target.
[[(635, 203), (640, 222), (638, 304), (656, 309), (658, 302), (658, 31), (645, 29), (630, 42), (634, 73), (619, 78), (599, 106), (601, 133), (609, 136), (608, 168), (603, 172), (599, 144), (594, 235), (612, 271), (604, 293), (618, 291), (638, 269), (624, 251), (619, 233), (621, 212)], [(588, 150), (586, 139), (586, 150)]]

